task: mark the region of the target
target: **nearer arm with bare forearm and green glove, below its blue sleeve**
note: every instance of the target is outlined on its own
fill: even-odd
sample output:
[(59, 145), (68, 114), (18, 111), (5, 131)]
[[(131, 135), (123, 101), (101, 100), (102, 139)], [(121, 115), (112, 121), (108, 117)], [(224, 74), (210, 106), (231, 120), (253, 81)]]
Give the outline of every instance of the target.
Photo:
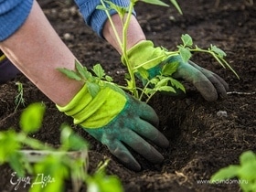
[(153, 164), (163, 161), (163, 156), (143, 139), (162, 147), (168, 145), (165, 136), (156, 129), (158, 117), (151, 107), (123, 91), (104, 86), (92, 97), (86, 83), (70, 80), (59, 72), (58, 68), (74, 70), (76, 58), (50, 26), (36, 1), (24, 24), (1, 39), (0, 48), (57, 104), (59, 111), (106, 144), (124, 165), (133, 170), (141, 168), (125, 144)]

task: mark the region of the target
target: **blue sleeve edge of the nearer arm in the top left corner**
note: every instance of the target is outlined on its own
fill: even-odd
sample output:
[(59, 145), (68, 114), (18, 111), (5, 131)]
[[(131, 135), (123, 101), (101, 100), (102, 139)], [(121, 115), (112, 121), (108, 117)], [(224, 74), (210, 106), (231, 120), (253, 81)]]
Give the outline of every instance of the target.
[(30, 13), (33, 0), (0, 0), (0, 41), (12, 36)]

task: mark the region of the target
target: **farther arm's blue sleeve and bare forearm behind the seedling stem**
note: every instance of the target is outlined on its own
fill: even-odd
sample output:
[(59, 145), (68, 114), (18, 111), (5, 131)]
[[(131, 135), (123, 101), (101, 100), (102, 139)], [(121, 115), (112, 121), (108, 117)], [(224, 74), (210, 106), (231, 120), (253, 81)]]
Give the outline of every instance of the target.
[[(75, 0), (79, 6), (80, 13), (83, 16), (86, 24), (92, 28), (95, 33), (100, 37), (105, 38), (113, 48), (115, 48), (120, 54), (122, 54), (122, 48), (118, 43), (117, 38), (114, 35), (113, 29), (111, 27), (108, 16), (104, 10), (97, 9), (97, 5), (101, 5), (100, 0)], [(115, 5), (120, 5), (123, 7), (128, 7), (130, 5), (130, 0), (111, 0)], [(109, 10), (110, 16), (112, 16), (112, 21), (116, 27), (118, 36), (120, 39), (123, 38), (123, 26), (120, 17), (117, 15), (116, 11)], [(137, 42), (144, 40), (144, 32), (138, 21), (135, 18), (135, 12), (133, 11), (133, 16), (130, 21), (130, 25), (127, 31), (127, 49), (133, 47)]]

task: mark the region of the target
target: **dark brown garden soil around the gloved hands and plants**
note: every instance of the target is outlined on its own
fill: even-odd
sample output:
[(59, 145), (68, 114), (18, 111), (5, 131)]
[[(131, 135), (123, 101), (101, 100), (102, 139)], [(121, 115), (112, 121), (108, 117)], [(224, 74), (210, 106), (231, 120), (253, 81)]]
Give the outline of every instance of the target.
[[(86, 27), (76, 5), (67, 2), (39, 1), (59, 36), (84, 65), (91, 68), (101, 63), (116, 82), (124, 83), (124, 68), (118, 53)], [(198, 184), (198, 181), (209, 179), (221, 167), (239, 164), (242, 152), (256, 151), (256, 5), (255, 2), (254, 5), (246, 2), (221, 0), (216, 7), (215, 1), (184, 0), (180, 1), (183, 16), (178, 15), (173, 7), (136, 5), (138, 20), (148, 39), (153, 40), (156, 46), (175, 49), (180, 43), (180, 36), (186, 33), (201, 48), (217, 45), (228, 54), (227, 60), (239, 73), (240, 80), (228, 69), (219, 67), (208, 55), (195, 54), (193, 61), (219, 74), (229, 83), (229, 97), (225, 101), (204, 101), (187, 82), (186, 98), (155, 96), (150, 105), (159, 115), (159, 129), (169, 139), (170, 146), (167, 149), (158, 148), (165, 156), (162, 165), (150, 165), (135, 155), (143, 167), (138, 173), (125, 168), (104, 145), (72, 125), (91, 144), (90, 173), (101, 160), (111, 158), (107, 172), (119, 176), (127, 192), (240, 191), (234, 183), (209, 185)], [(44, 101), (48, 107), (43, 127), (33, 137), (58, 145), (60, 124), (72, 124), (72, 120), (60, 113), (54, 103), (23, 75), (0, 85), (0, 129), (18, 129), (23, 107), (15, 112), (17, 80), (24, 85), (27, 104)], [(219, 116), (219, 111), (227, 112), (227, 116)], [(1, 191), (15, 191), (10, 184), (13, 171), (7, 165), (2, 165), (0, 170)], [(67, 191), (72, 191), (69, 185)]]

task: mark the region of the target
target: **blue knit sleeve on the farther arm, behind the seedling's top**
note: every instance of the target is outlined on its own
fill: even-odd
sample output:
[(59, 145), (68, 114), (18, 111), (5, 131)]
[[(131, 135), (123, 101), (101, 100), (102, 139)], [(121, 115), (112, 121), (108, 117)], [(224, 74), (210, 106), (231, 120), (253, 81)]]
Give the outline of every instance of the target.
[[(80, 8), (80, 13), (83, 16), (85, 23), (102, 37), (102, 29), (108, 16), (105, 11), (96, 9), (97, 5), (101, 5), (101, 0), (75, 0), (75, 2)], [(128, 7), (130, 5), (130, 0), (112, 0), (112, 3)], [(116, 14), (116, 11), (112, 9), (110, 15), (112, 16), (113, 14)]]

